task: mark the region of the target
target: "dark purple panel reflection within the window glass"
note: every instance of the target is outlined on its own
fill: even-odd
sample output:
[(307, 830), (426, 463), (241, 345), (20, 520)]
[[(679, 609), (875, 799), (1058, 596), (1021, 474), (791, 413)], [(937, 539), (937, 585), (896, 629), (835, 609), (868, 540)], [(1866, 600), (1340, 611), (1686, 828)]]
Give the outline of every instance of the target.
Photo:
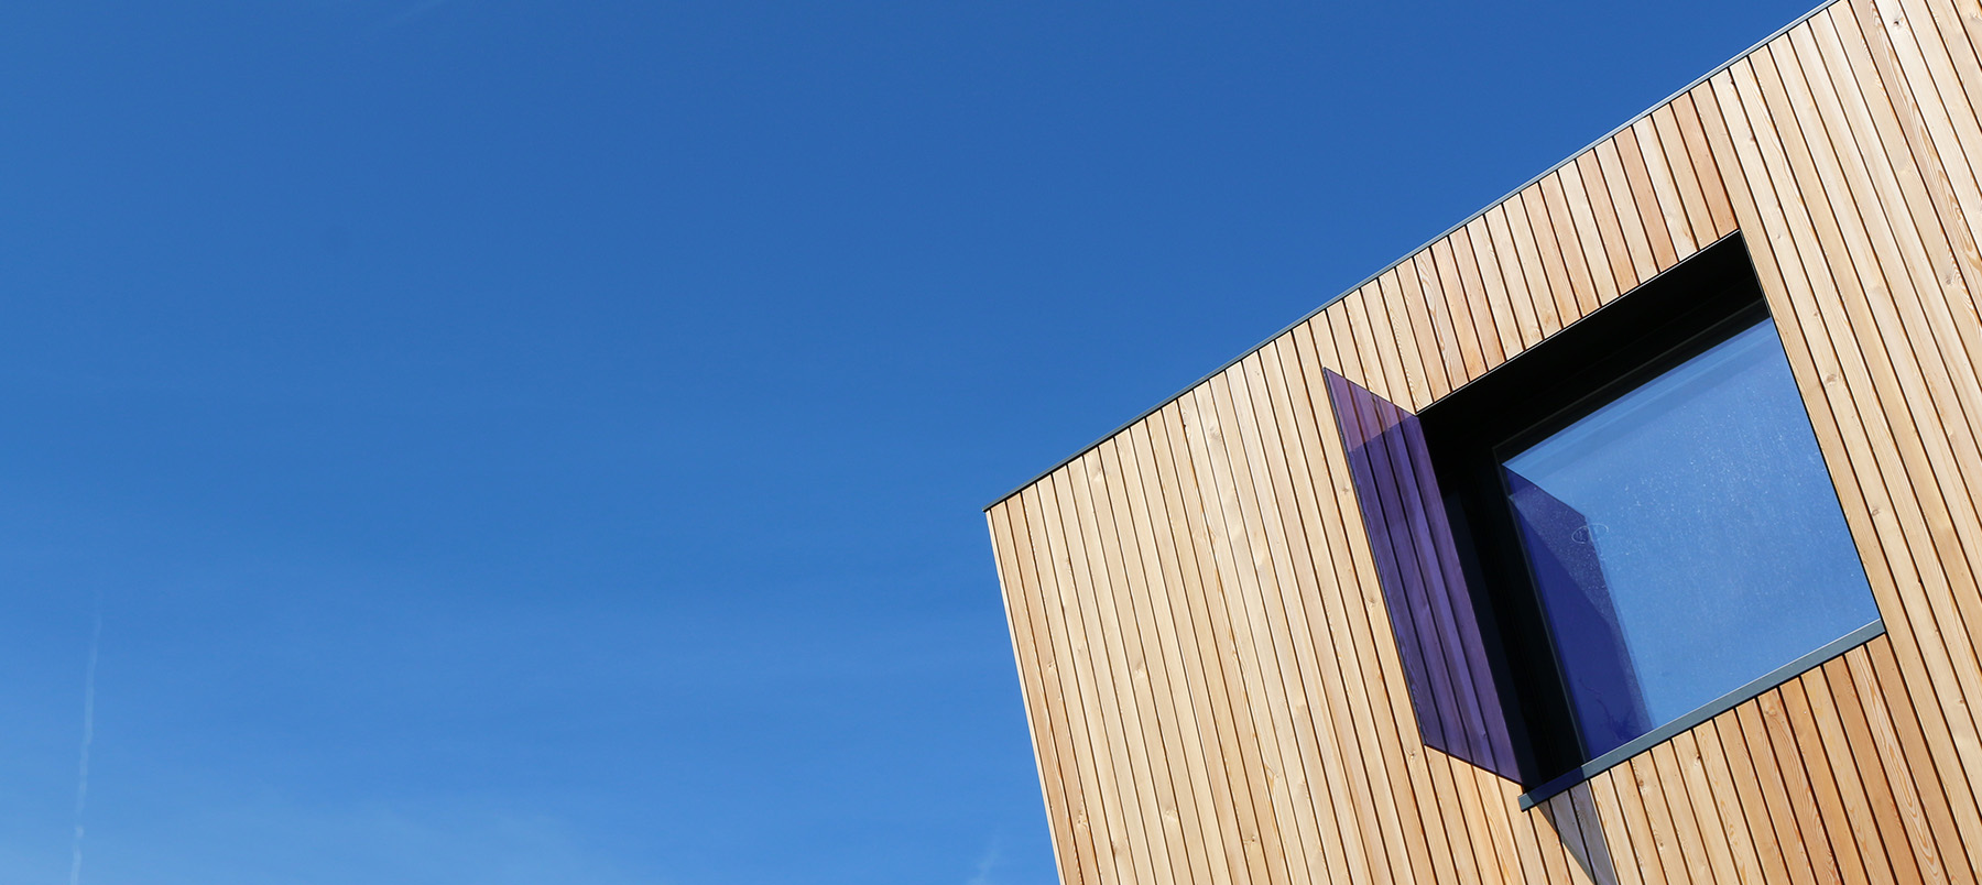
[(1534, 586), (1548, 610), (1562, 675), (1576, 699), (1584, 746), (1601, 756), (1653, 729), (1637, 667), (1617, 624), (1597, 535), (1574, 507), (1542, 491), (1520, 473), (1506, 471), (1514, 521), (1528, 550)]

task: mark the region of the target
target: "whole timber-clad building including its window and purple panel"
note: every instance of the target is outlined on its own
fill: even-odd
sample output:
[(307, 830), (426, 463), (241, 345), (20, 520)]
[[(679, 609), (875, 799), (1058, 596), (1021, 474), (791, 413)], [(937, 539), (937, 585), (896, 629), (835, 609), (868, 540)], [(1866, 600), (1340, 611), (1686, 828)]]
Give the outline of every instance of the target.
[(1064, 883), (1974, 883), (1982, 0), (1837, 0), (989, 507)]

